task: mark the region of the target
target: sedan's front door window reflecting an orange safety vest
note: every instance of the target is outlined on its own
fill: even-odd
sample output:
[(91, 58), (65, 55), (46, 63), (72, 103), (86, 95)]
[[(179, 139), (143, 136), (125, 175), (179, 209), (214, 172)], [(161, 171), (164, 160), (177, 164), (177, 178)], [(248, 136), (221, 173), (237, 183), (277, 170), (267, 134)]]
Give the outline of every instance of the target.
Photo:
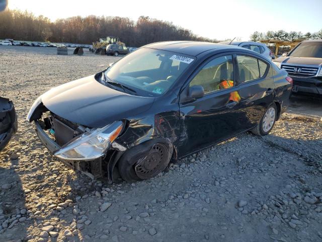
[(189, 84), (195, 85), (201, 85), (205, 93), (233, 87), (232, 56), (221, 56), (206, 64)]

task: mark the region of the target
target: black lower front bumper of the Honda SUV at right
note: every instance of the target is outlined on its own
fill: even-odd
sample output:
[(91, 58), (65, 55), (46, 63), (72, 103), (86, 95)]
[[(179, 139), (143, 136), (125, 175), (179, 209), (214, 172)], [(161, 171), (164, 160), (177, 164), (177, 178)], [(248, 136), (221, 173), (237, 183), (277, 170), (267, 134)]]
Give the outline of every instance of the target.
[(322, 95), (322, 77), (293, 77), (292, 93)]

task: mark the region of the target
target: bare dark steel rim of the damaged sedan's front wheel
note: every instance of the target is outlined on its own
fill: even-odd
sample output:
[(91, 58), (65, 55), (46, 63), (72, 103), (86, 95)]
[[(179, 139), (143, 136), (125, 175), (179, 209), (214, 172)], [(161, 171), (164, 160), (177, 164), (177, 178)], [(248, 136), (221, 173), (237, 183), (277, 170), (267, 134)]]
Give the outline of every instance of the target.
[(141, 179), (148, 179), (163, 171), (167, 162), (168, 149), (164, 144), (155, 144), (149, 153), (135, 165), (135, 173)]

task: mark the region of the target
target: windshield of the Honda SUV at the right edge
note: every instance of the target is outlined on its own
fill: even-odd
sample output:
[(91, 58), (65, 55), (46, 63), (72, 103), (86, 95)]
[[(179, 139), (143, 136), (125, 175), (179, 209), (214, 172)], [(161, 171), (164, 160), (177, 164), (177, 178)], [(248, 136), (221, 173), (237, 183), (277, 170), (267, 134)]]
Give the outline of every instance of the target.
[(301, 43), (288, 56), (322, 58), (322, 43)]

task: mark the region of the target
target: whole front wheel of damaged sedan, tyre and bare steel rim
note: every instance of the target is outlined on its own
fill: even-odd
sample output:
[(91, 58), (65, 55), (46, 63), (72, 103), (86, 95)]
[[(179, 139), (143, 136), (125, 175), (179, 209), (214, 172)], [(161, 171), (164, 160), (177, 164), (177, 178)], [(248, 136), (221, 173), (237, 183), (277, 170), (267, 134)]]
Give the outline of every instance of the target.
[(162, 172), (172, 157), (173, 145), (162, 139), (140, 144), (121, 157), (118, 167), (128, 183), (149, 179)]

